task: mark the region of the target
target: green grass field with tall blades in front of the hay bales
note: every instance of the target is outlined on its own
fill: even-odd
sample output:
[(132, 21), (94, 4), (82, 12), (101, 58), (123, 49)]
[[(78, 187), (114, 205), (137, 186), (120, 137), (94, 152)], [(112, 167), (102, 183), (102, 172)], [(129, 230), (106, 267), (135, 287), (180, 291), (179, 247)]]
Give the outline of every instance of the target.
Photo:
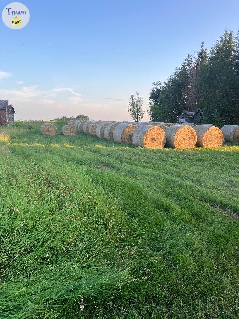
[(0, 318), (238, 318), (239, 144), (0, 128)]

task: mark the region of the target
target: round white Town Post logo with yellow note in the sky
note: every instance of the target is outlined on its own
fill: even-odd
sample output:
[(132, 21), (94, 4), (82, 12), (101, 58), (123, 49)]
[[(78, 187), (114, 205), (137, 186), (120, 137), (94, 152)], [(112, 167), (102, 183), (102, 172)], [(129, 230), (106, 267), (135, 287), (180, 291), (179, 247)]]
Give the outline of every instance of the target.
[(30, 12), (24, 4), (12, 2), (4, 7), (2, 19), (7, 27), (18, 30), (28, 24)]

